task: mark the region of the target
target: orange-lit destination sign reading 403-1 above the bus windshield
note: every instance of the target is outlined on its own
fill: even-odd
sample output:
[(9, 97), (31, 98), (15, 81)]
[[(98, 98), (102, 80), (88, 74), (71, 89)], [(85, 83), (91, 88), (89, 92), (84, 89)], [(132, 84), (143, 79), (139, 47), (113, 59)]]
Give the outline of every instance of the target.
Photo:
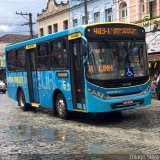
[(145, 38), (145, 30), (142, 27), (135, 25), (124, 25), (124, 24), (100, 24), (95, 26), (89, 26), (86, 28), (86, 37), (87, 38), (99, 38), (106, 37), (112, 39), (114, 37), (122, 38)]

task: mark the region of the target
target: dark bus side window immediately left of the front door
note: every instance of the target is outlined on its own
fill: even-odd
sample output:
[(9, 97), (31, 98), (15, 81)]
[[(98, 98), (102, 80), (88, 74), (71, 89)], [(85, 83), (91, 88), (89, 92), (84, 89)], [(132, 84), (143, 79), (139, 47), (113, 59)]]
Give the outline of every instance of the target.
[(50, 68), (67, 68), (66, 39), (50, 42)]

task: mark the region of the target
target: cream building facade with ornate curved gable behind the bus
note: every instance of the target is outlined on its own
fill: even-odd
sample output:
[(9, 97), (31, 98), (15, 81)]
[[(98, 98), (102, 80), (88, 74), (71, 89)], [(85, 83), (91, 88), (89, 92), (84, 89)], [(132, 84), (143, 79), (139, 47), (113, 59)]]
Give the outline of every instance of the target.
[(57, 4), (48, 0), (47, 7), (37, 15), (38, 36), (44, 36), (67, 29), (69, 26), (69, 3)]

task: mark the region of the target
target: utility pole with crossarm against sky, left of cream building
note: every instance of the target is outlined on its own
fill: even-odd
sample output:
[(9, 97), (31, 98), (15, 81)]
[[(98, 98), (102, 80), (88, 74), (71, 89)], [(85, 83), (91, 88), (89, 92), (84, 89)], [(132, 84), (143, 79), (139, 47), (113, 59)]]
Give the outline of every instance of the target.
[(16, 12), (16, 14), (17, 15), (21, 15), (21, 16), (29, 16), (29, 19), (28, 18), (26, 18), (26, 17), (24, 17), (25, 19), (27, 19), (28, 20), (28, 23), (25, 23), (25, 24), (23, 24), (23, 25), (29, 25), (29, 28), (30, 28), (30, 36), (31, 36), (31, 38), (33, 38), (33, 24), (35, 24), (35, 23), (33, 23), (32, 22), (32, 13), (18, 13), (18, 12)]

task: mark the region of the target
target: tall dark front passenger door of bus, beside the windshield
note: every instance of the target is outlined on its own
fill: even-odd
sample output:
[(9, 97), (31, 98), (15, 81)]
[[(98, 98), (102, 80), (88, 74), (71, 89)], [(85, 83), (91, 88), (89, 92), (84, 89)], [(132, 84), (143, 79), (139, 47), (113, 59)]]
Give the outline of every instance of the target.
[(82, 61), (81, 39), (69, 41), (71, 53), (71, 86), (74, 108), (84, 110), (84, 66)]

